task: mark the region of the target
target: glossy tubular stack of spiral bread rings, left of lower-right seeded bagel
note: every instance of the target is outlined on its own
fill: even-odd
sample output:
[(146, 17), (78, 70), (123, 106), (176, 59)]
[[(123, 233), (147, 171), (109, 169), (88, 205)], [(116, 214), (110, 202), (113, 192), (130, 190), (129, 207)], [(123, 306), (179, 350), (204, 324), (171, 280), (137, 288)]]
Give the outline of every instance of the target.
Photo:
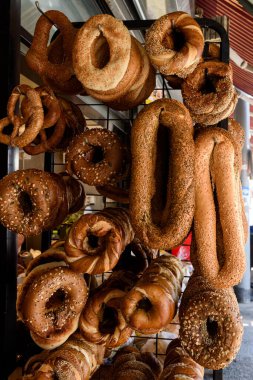
[(121, 309), (129, 326), (143, 334), (165, 328), (176, 314), (182, 280), (182, 266), (176, 257), (155, 259), (123, 299)]

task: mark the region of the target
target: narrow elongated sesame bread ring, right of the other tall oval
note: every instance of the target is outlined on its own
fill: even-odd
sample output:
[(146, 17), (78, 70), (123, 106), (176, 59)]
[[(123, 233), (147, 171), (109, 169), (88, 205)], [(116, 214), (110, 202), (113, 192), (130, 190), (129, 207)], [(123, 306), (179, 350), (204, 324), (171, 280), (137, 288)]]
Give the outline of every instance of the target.
[[(239, 168), (233, 144), (229, 133), (219, 128), (204, 129), (195, 140), (195, 254), (200, 274), (215, 288), (238, 284), (246, 265)], [(223, 234), (222, 266), (216, 252), (214, 188)]]

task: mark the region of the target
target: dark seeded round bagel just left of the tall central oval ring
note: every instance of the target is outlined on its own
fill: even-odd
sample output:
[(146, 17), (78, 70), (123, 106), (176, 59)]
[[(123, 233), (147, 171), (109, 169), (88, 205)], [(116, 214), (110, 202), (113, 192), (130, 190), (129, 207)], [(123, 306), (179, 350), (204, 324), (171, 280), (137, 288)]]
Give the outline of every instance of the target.
[[(103, 157), (93, 162), (97, 151)], [(115, 133), (93, 128), (72, 140), (66, 154), (66, 171), (89, 185), (104, 185), (120, 173), (124, 157), (124, 145)]]

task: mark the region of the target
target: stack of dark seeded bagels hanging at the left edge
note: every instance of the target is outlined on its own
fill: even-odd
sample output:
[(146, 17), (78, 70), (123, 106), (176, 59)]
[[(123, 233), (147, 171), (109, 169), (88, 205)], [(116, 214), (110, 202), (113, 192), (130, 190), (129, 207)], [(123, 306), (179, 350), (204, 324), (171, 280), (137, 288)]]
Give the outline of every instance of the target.
[(84, 202), (82, 190), (78, 199), (73, 199), (69, 191), (71, 187), (55, 173), (38, 169), (10, 173), (0, 180), (0, 222), (25, 236), (52, 229), (62, 223), (70, 210), (76, 210)]

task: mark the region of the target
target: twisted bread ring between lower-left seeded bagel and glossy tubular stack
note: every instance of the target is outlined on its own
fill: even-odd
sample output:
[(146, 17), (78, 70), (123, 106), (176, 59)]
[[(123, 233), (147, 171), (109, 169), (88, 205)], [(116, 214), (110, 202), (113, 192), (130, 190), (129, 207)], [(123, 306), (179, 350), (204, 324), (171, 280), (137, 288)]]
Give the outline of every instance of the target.
[(117, 347), (125, 343), (132, 333), (121, 313), (120, 304), (137, 277), (126, 271), (114, 272), (95, 289), (81, 314), (79, 328), (89, 342)]

